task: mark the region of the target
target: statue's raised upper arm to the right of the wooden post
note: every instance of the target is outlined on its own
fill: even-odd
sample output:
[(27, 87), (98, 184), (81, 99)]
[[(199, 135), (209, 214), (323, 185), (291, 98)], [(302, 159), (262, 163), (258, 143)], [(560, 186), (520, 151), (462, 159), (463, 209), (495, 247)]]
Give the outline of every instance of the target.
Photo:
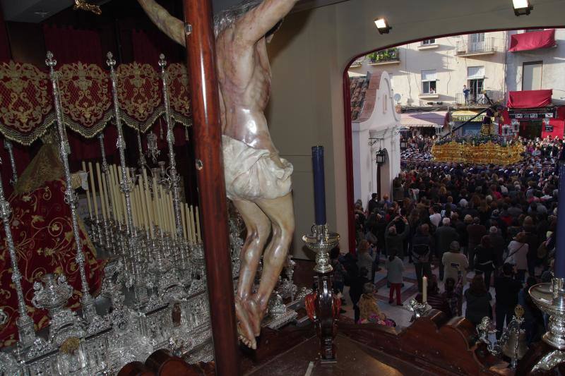
[(264, 0), (237, 20), (234, 38), (246, 46), (255, 44), (295, 6), (297, 0)]

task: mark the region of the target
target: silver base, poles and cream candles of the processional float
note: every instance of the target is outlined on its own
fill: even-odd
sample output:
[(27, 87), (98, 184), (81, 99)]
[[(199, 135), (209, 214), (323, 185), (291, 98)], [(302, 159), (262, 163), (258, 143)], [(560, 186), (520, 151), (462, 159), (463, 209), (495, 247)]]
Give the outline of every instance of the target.
[[(206, 272), (198, 206), (189, 206), (180, 198), (179, 174), (174, 154), (174, 115), (170, 109), (165, 56), (160, 56), (162, 102), (167, 125), (169, 166), (160, 162), (150, 169), (140, 158), (140, 171), (126, 165), (119, 78), (116, 61), (107, 56), (112, 87), (112, 106), (117, 127), (119, 165), (108, 164), (104, 136), (98, 136), (102, 156), (100, 164), (83, 162), (90, 227), (90, 238), (99, 249), (112, 257), (105, 266), (105, 279), (100, 296), (90, 295), (85, 272), (82, 239), (78, 230), (78, 198), (73, 189), (69, 166), (71, 147), (66, 135), (64, 109), (61, 106), (57, 61), (49, 52), (46, 64), (52, 85), (59, 157), (64, 166), (65, 202), (71, 210), (71, 223), (76, 243), (76, 264), (81, 279), (81, 314), (67, 307), (73, 289), (63, 274), (46, 274), (35, 281), (32, 304), (49, 311), (47, 339), (36, 334), (33, 320), (27, 314), (25, 298), (18, 283), (18, 257), (11, 237), (10, 204), (0, 184), (0, 209), (10, 252), (13, 281), (18, 295), (19, 341), (13, 353), (0, 353), (0, 371), (30, 375), (95, 375), (117, 372), (126, 363), (145, 360), (150, 353), (167, 348), (184, 359), (196, 363), (213, 359), (208, 319)], [(148, 157), (158, 152), (155, 142), (148, 140)], [(8, 149), (9, 142), (6, 143)], [(138, 144), (141, 150), (141, 142)], [(11, 149), (8, 149), (10, 151)], [(11, 154), (12, 181), (16, 169)], [(140, 153), (143, 156), (143, 152)], [(0, 181), (1, 183), (1, 181)], [(98, 193), (96, 193), (98, 192)], [(100, 200), (99, 200), (100, 198)], [(100, 207), (99, 207), (100, 204)], [(99, 210), (100, 209), (100, 210)], [(232, 274), (239, 273), (241, 225), (237, 217), (230, 219), (230, 255)], [(273, 293), (269, 315), (264, 325), (280, 327), (294, 320), (296, 313), (283, 303), (290, 298), (292, 307), (309, 293), (292, 284), (292, 260), (287, 279), (282, 279)], [(107, 300), (109, 307), (101, 312), (95, 301)], [(288, 305), (289, 307), (291, 305)], [(4, 315), (4, 313), (1, 313)], [(1, 316), (0, 315), (0, 316)], [(2, 317), (0, 317), (2, 318)]]

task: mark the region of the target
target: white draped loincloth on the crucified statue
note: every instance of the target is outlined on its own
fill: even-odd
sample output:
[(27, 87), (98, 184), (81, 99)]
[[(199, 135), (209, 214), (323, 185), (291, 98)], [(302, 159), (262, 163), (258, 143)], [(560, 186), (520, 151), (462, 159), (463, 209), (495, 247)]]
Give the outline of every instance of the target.
[(279, 167), (268, 150), (255, 149), (244, 142), (222, 135), (227, 198), (253, 201), (280, 198), (292, 190), (292, 164), (280, 158)]

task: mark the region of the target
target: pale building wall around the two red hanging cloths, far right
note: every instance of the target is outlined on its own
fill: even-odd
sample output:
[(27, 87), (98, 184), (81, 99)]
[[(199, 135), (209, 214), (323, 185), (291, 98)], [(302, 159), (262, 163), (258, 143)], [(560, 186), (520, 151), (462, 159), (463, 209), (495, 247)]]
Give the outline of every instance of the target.
[[(509, 32), (509, 35), (522, 32)], [(506, 81), (509, 91), (522, 90), (523, 63), (543, 61), (542, 89), (553, 89), (553, 103), (565, 104), (565, 29), (555, 30), (557, 47), (506, 54)], [(508, 37), (510, 45), (510, 36)]]

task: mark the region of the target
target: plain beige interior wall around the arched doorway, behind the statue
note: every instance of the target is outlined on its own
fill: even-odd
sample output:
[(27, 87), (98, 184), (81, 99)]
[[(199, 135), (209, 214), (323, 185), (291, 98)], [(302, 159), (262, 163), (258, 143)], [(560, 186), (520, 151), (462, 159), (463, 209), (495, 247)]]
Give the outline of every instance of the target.
[[(328, 224), (348, 249), (347, 177), (343, 71), (357, 55), (422, 40), (489, 29), (562, 25), (565, 1), (536, 3), (530, 16), (514, 16), (511, 1), (351, 0), (293, 13), (269, 47), (273, 95), (268, 121), (275, 145), (295, 164), (293, 186), (297, 231), (292, 252), (306, 254), (299, 241), (314, 222), (310, 147), (326, 146)], [(374, 18), (385, 16), (393, 26), (379, 35)], [(349, 104), (347, 104), (349, 105)]]

